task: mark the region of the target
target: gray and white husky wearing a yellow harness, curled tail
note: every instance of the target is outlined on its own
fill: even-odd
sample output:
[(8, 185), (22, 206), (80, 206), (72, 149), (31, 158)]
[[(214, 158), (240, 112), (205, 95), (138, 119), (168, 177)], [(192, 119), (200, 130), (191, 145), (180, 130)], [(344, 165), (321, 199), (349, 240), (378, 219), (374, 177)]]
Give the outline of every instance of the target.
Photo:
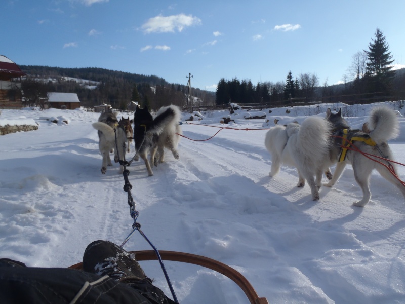
[[(369, 130), (367, 130), (367, 132), (364, 132), (363, 130), (351, 130), (346, 120), (342, 117), (341, 109), (338, 113), (332, 113), (331, 109), (328, 108), (326, 112), (326, 120), (333, 125), (333, 145), (330, 149), (330, 159), (332, 163), (338, 162), (341, 154), (341, 145), (342, 143), (345, 144), (345, 141), (336, 137), (343, 136), (344, 129), (348, 130), (349, 137), (370, 137), (375, 142), (376, 145), (373, 146), (363, 141), (353, 141), (354, 147), (361, 152), (393, 160), (392, 152), (387, 141), (396, 138), (399, 135), (399, 122), (395, 112), (389, 107), (378, 106), (371, 110), (368, 119)], [(397, 186), (405, 197), (405, 186), (401, 184), (401, 182), (392, 175), (385, 166), (379, 163), (381, 162), (388, 165), (388, 162), (373, 157), (371, 158), (378, 162), (369, 159), (358, 151), (348, 149), (345, 160), (337, 163), (333, 178), (325, 184), (325, 186), (332, 187), (338, 181), (346, 164), (351, 164), (353, 167), (354, 178), (363, 192), (363, 198), (358, 202), (354, 202), (354, 206), (363, 207), (370, 201), (371, 192), (369, 180), (374, 169), (376, 169), (386, 180)], [(397, 170), (395, 163), (389, 162), (389, 164), (396, 173)]]

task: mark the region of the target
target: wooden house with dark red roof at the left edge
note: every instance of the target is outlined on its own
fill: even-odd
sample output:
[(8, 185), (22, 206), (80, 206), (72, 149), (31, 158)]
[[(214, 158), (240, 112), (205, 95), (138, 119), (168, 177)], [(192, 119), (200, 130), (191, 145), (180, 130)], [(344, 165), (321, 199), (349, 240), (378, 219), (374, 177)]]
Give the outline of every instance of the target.
[(19, 78), (26, 74), (21, 71), (17, 64), (4, 55), (0, 55), (0, 109), (20, 109), (22, 101), (19, 94), (8, 94), (10, 89), (21, 88), (21, 83), (11, 82), (13, 78)]

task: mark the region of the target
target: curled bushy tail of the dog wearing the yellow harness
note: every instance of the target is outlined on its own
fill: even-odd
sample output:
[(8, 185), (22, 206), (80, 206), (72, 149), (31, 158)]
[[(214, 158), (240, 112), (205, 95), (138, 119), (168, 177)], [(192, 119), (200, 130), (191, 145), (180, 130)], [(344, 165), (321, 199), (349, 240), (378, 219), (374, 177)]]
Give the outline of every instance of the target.
[(374, 107), (369, 117), (370, 137), (381, 144), (399, 135), (399, 122), (396, 113), (387, 106)]

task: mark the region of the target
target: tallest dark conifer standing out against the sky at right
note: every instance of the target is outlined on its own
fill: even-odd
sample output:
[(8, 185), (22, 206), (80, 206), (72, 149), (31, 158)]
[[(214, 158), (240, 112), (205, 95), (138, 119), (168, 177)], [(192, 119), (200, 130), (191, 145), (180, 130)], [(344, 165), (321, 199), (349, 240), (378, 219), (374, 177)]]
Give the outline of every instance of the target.
[(383, 32), (377, 28), (375, 39), (369, 43), (366, 78), (369, 84), (369, 92), (388, 93), (392, 87), (395, 71), (392, 70), (392, 55), (388, 51), (388, 43), (385, 41)]

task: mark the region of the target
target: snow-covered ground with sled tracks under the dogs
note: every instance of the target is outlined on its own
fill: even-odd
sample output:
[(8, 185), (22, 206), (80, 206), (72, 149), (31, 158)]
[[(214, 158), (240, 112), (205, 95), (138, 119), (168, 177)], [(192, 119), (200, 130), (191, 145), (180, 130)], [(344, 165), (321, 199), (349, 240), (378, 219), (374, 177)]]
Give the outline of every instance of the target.
[[(295, 168), (268, 175), (266, 128), (274, 119), (324, 116), (328, 106), (354, 115), (348, 118), (354, 128), (370, 108), (263, 109), (267, 119), (238, 119), (244, 116), (238, 113), (229, 125), (218, 123), (223, 113), (208, 112), (203, 121), (183, 123), (183, 134), (198, 140), (219, 130), (210, 126), (254, 131), (224, 129), (208, 141), (182, 138), (180, 159), (167, 153), (152, 177), (143, 161), (134, 162), (129, 179), (142, 231), (160, 250), (230, 265), (270, 303), (405, 303), (405, 203), (395, 186), (374, 172), (371, 202), (358, 208), (352, 203), (362, 194), (350, 166), (333, 188), (320, 189), (319, 202), (311, 200), (308, 186), (295, 187)], [(58, 117), (68, 124), (45, 120)], [(68, 267), (82, 260), (94, 240), (121, 244), (133, 220), (119, 167), (100, 172), (98, 136), (91, 126), (98, 114), (24, 109), (0, 115), (0, 121), (24, 118), (39, 129), (0, 136), (0, 257), (32, 267)], [(401, 134), (390, 146), (396, 161), (405, 163), (405, 118), (399, 120)], [(403, 180), (405, 168), (398, 171)], [(151, 249), (138, 233), (124, 248)], [(171, 296), (158, 262), (141, 265)], [(165, 265), (181, 303), (248, 302), (221, 274), (184, 263)]]

